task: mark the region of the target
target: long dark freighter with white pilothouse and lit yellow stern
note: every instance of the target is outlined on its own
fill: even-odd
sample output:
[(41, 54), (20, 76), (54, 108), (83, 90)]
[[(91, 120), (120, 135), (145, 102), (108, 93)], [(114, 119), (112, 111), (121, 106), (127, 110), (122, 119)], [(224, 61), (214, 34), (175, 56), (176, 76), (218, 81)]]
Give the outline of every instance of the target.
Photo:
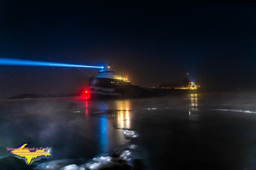
[(99, 71), (99, 75), (89, 77), (90, 93), (92, 96), (162, 96), (175, 93), (195, 93), (198, 89), (192, 85), (189, 79), (185, 83), (175, 86), (156, 86), (151, 88), (131, 85), (128, 76), (123, 77), (115, 70), (108, 69)]

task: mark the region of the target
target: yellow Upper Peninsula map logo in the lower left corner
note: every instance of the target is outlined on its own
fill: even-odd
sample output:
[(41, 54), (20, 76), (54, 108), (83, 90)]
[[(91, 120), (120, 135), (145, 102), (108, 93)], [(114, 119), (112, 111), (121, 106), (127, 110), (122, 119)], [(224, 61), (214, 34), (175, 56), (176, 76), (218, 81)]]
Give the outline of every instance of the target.
[[(29, 145), (29, 143), (24, 143), (18, 146), (17, 148), (13, 149), (11, 151), (12, 156), (15, 156), (19, 159), (25, 160), (26, 164), (32, 164), (34, 161), (39, 161), (42, 158), (48, 158), (52, 156), (51, 148), (27, 148), (26, 145)], [(48, 149), (48, 150), (47, 150)], [(35, 150), (35, 151), (31, 151)]]

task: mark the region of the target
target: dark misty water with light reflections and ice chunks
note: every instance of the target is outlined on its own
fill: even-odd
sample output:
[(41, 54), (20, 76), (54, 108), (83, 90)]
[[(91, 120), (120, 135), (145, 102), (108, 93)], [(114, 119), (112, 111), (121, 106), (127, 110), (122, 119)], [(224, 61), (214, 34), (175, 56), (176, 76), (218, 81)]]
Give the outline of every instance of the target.
[[(2, 101), (0, 130), (0, 170), (256, 169), (254, 93)], [(25, 142), (53, 157), (26, 165), (6, 151)]]

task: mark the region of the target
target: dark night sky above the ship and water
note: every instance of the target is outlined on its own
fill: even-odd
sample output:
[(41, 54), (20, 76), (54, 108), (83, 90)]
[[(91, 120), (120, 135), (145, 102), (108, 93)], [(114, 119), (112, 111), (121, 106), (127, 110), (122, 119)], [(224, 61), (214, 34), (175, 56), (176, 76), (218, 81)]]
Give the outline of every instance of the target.
[[(189, 73), (207, 90), (255, 89), (255, 47), (256, 3), (0, 1), (0, 57), (111, 62), (134, 85), (180, 81)], [(1, 65), (0, 79), (2, 99), (88, 86), (78, 68)]]

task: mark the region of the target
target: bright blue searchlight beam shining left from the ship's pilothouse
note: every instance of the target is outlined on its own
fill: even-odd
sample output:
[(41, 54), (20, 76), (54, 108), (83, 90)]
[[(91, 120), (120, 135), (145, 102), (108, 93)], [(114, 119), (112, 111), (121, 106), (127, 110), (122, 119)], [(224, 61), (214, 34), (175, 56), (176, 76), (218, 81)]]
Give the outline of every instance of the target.
[(90, 66), (90, 65), (64, 64), (64, 63), (57, 63), (57, 62), (31, 61), (31, 60), (8, 59), (8, 58), (0, 58), (0, 65), (104, 68), (104, 67), (97, 67), (97, 66)]

